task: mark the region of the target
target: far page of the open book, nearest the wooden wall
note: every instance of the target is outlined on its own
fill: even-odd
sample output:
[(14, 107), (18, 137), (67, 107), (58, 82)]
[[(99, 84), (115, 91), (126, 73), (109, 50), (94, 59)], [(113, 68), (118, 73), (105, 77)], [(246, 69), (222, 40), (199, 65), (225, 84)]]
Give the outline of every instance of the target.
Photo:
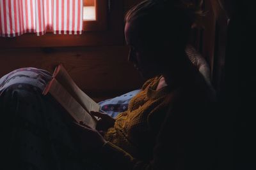
[(90, 111), (99, 111), (99, 104), (95, 103), (89, 96), (87, 96), (83, 90), (77, 87), (76, 83), (69, 76), (65, 68), (60, 64), (56, 67), (53, 74), (54, 78), (58, 80), (61, 85), (71, 94), (76, 101), (83, 106), (83, 108), (90, 113)]

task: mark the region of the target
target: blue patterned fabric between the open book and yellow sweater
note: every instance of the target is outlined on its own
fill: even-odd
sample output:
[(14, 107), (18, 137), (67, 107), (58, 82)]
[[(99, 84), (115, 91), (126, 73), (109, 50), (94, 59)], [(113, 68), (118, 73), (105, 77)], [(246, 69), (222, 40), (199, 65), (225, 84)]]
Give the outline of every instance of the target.
[(115, 118), (119, 113), (124, 112), (128, 109), (129, 101), (136, 94), (140, 92), (140, 89), (133, 90), (122, 96), (118, 96), (112, 99), (106, 99), (104, 101), (100, 101), (100, 110), (108, 113), (109, 116)]

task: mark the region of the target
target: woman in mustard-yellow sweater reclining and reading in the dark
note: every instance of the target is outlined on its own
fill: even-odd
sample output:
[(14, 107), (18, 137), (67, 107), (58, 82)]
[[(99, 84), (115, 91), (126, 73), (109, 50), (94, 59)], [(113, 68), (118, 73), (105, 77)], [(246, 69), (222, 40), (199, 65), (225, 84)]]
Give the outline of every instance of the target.
[[(199, 3), (184, 1), (147, 0), (129, 10), (125, 17), (129, 61), (148, 81), (131, 99), (128, 110), (115, 119), (92, 112), (101, 118), (97, 129), (103, 133), (78, 124), (71, 125), (70, 131), (70, 125), (52, 118), (52, 113), (46, 111), (50, 119), (60, 124), (54, 128), (61, 128), (62, 134), (52, 132), (54, 129), (38, 133), (45, 136), (52, 133), (53, 138), (60, 135), (62, 140), (49, 139), (47, 144), (42, 144), (45, 152), (48, 152), (47, 147), (57, 150), (45, 153), (51, 157), (38, 162), (42, 169), (83, 169), (84, 162), (78, 161), (81, 155), (90, 157), (102, 169), (213, 168), (213, 159), (209, 156), (212, 155), (209, 104), (214, 101), (214, 95), (185, 53), (199, 6)], [(15, 93), (9, 95), (15, 98)], [(52, 110), (58, 110), (50, 105)], [(43, 129), (52, 126), (49, 118), (42, 118), (45, 120), (41, 121)], [(58, 150), (59, 145), (51, 143), (59, 143), (63, 153)], [(68, 149), (63, 150), (63, 146)], [(75, 154), (79, 159), (74, 158)], [(74, 163), (68, 164), (65, 160)], [(54, 166), (49, 166), (51, 161)], [(88, 168), (86, 164), (84, 169)]]

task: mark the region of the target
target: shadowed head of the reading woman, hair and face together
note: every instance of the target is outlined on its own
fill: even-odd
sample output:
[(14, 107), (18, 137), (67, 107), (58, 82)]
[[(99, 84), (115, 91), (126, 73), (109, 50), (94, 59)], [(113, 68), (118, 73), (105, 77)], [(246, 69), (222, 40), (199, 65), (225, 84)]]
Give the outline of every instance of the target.
[(128, 11), (125, 39), (131, 46), (129, 60), (145, 78), (163, 74), (184, 53), (199, 11), (195, 5), (199, 3), (189, 2), (147, 0)]

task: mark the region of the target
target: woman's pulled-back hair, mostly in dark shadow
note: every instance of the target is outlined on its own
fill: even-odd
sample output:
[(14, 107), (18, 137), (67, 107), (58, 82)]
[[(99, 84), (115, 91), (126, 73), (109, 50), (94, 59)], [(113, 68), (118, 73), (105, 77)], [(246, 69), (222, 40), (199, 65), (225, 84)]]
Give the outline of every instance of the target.
[(127, 12), (125, 22), (138, 21), (140, 38), (149, 46), (168, 41), (184, 51), (191, 26), (204, 15), (201, 6), (202, 0), (146, 0)]

